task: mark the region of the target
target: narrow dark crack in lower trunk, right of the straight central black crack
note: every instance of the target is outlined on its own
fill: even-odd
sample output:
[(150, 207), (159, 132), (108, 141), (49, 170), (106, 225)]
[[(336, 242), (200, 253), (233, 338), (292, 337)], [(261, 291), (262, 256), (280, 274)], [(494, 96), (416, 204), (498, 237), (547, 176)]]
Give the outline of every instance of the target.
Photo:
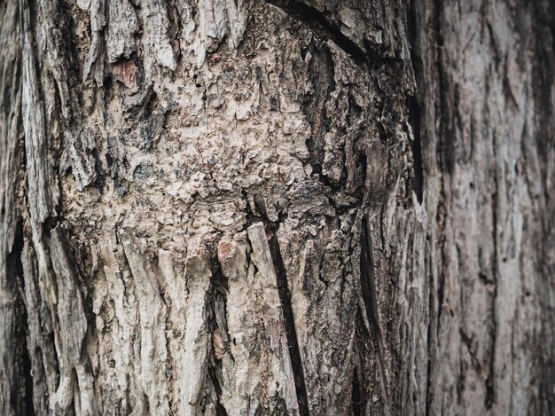
[(378, 299), (376, 295), (376, 282), (371, 254), (371, 235), (369, 226), (370, 224), (368, 224), (368, 219), (363, 216), (360, 237), (360, 280), (366, 317), (368, 318), (368, 322), (371, 326), (371, 336), (377, 351), (381, 394), (384, 400), (385, 411), (388, 413), (387, 409), (389, 406), (389, 396), (387, 393), (386, 365), (384, 363), (382, 334), (379, 327)]

